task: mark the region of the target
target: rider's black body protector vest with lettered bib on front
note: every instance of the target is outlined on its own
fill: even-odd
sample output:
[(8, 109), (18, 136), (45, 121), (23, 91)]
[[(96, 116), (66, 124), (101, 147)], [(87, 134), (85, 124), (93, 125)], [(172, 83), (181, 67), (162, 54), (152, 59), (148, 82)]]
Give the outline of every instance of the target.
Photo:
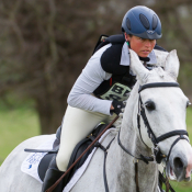
[[(104, 100), (124, 101), (128, 98), (129, 92), (136, 83), (136, 77), (129, 74), (129, 66), (120, 65), (122, 48), (125, 43), (125, 38), (122, 34), (112, 35), (110, 37), (106, 35), (101, 35), (93, 54), (109, 43), (111, 43), (112, 46), (102, 54), (100, 61), (103, 70), (105, 72), (112, 74), (112, 77), (109, 80), (104, 80), (93, 91), (93, 94), (97, 98)], [(155, 46), (155, 49), (166, 52), (158, 45)], [(140, 58), (140, 60), (145, 63), (149, 61), (149, 58)]]

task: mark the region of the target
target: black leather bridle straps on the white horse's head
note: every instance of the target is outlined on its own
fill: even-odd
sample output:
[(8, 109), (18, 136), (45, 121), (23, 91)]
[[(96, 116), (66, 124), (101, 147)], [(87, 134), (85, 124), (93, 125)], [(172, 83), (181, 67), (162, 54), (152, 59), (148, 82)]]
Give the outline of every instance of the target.
[[(147, 116), (146, 116), (146, 113), (145, 113), (145, 108), (144, 108), (144, 104), (142, 102), (142, 97), (140, 97), (140, 92), (145, 89), (149, 89), (149, 88), (168, 88), (168, 87), (176, 87), (178, 88), (179, 87), (179, 83), (177, 82), (155, 82), (155, 83), (148, 83), (148, 84), (144, 84), (144, 86), (140, 86), (139, 90), (138, 90), (138, 93), (139, 93), (139, 99), (138, 99), (138, 114), (137, 114), (137, 127), (138, 127), (138, 131), (139, 131), (139, 135), (140, 135), (140, 138), (142, 138), (142, 134), (140, 134), (140, 116), (144, 121), (144, 124), (145, 126), (147, 127), (147, 133), (148, 133), (148, 136), (149, 138), (151, 139), (153, 144), (154, 144), (154, 157), (146, 157), (146, 156), (143, 156), (140, 155), (140, 157), (135, 157), (128, 149), (126, 149), (121, 140), (120, 140), (120, 132), (118, 132), (118, 145), (122, 147), (123, 150), (125, 150), (127, 154), (129, 154), (131, 156), (133, 156), (134, 158), (138, 159), (138, 160), (143, 160), (144, 162), (148, 163), (149, 161), (154, 161), (156, 160), (157, 163), (160, 163), (161, 160), (163, 158), (167, 157), (167, 162), (169, 161), (169, 157), (170, 157), (170, 154), (172, 151), (172, 148), (173, 146), (180, 140), (180, 139), (187, 139), (187, 137), (184, 137), (184, 135), (188, 136), (188, 132), (184, 131), (184, 129), (177, 129), (177, 131), (172, 131), (172, 132), (168, 132), (159, 137), (156, 137), (156, 135), (154, 134), (151, 127), (150, 127), (150, 124), (147, 120)], [(172, 136), (179, 136), (171, 145), (170, 149), (169, 149), (169, 153), (168, 153), (168, 156), (163, 155), (159, 148), (158, 148), (158, 143), (167, 139), (167, 138), (170, 138)], [(143, 138), (142, 138), (143, 140)], [(189, 142), (189, 140), (188, 140)], [(143, 140), (144, 143), (144, 140)], [(144, 143), (145, 144), (145, 143)], [(146, 145), (146, 144), (145, 144)]]

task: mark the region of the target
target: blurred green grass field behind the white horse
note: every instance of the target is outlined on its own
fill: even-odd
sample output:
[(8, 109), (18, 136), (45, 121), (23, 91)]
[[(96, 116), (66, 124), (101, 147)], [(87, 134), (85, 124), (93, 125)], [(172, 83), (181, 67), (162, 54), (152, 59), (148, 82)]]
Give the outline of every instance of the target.
[[(187, 124), (192, 140), (192, 109), (188, 110)], [(38, 117), (29, 108), (0, 110), (0, 165), (4, 158), (21, 142), (39, 134)], [(192, 142), (191, 142), (192, 144)], [(171, 183), (177, 192), (191, 192), (192, 181), (189, 183)]]

